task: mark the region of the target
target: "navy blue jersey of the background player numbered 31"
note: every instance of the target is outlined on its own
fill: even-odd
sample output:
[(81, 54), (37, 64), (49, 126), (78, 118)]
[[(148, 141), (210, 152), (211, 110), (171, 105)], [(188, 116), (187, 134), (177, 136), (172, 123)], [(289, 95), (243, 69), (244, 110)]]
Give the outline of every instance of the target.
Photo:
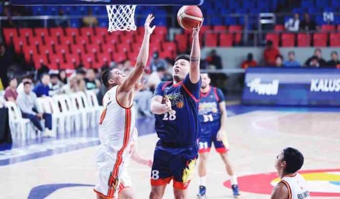
[(224, 96), (219, 88), (209, 86), (207, 93), (202, 93), (199, 102), (198, 118), (202, 126), (221, 121), (221, 112), (218, 103), (224, 101)]

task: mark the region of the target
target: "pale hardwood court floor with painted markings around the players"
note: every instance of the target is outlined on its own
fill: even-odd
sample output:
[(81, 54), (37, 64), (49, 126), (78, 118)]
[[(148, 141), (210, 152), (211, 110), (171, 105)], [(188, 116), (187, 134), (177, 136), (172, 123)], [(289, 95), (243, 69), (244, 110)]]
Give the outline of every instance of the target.
[[(273, 188), (270, 183), (274, 183), (273, 180), (277, 176), (267, 173), (276, 172), (274, 168), (276, 155), (288, 146), (295, 147), (303, 153), (305, 162), (301, 170), (333, 169), (324, 171), (321, 179), (314, 174), (307, 174), (312, 175), (308, 177), (311, 189), (333, 195), (313, 198), (339, 199), (339, 122), (339, 112), (255, 111), (228, 118), (228, 139), (231, 148), (229, 154), (234, 170), (240, 177), (238, 181), (242, 199), (269, 198), (268, 194)], [(156, 141), (155, 134), (139, 137), (140, 153), (151, 159)], [(97, 147), (0, 166), (0, 198), (24, 199), (29, 196), (28, 198), (39, 199), (47, 196), (48, 199), (95, 199), (93, 187), (85, 185), (94, 185), (96, 182), (94, 156)], [(134, 183), (133, 189), (137, 199), (148, 199), (150, 168), (131, 161), (129, 174)], [(255, 174), (263, 175), (252, 176)], [(326, 177), (323, 178), (322, 175)], [(273, 177), (268, 181), (270, 176)], [(208, 164), (207, 197), (232, 198), (231, 189), (223, 185), (228, 179), (219, 155), (212, 149)], [(189, 186), (189, 199), (195, 198), (197, 189), (196, 169)], [(164, 199), (172, 198), (170, 183)]]

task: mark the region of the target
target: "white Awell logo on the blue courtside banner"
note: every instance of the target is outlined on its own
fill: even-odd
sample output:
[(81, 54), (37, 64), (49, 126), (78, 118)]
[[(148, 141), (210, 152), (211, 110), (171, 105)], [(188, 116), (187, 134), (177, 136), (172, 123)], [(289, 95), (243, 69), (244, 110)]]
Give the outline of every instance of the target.
[(273, 80), (271, 83), (261, 83), (261, 78), (255, 78), (247, 83), (247, 86), (250, 88), (251, 93), (255, 92), (258, 95), (277, 95), (278, 84), (278, 80)]

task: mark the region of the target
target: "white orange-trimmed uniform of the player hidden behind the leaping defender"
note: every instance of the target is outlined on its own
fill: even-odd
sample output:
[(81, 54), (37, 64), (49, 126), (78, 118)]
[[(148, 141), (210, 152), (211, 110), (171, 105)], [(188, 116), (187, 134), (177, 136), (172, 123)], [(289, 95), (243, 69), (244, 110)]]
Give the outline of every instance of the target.
[(122, 178), (121, 178), (121, 181), (119, 183), (119, 188), (118, 188), (118, 192), (116, 192), (116, 195), (115, 197), (118, 198), (120, 192), (127, 188), (127, 187), (131, 187), (132, 188), (132, 180), (131, 180), (131, 177), (130, 175), (128, 175), (128, 171), (127, 171), (127, 167), (128, 167), (128, 163), (130, 162), (130, 159), (131, 159), (131, 156), (132, 156), (132, 153), (133, 153), (133, 150), (137, 144), (137, 138), (138, 138), (138, 131), (137, 129), (135, 128), (134, 130), (134, 133), (133, 133), (133, 137), (130, 141), (130, 144), (129, 146), (127, 147), (127, 153), (128, 153), (128, 158), (127, 160), (124, 162), (124, 171), (123, 171), (123, 174), (122, 174)]

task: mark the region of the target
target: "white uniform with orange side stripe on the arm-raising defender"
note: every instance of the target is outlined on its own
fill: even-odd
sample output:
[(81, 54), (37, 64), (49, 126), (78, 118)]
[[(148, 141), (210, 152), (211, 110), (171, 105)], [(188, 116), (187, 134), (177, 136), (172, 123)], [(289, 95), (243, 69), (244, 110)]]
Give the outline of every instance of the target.
[[(99, 125), (101, 144), (96, 154), (97, 185), (94, 191), (105, 198), (114, 198), (128, 157), (135, 126), (135, 109), (124, 107), (117, 100), (117, 88), (108, 90)], [(132, 103), (132, 102), (131, 102)]]

